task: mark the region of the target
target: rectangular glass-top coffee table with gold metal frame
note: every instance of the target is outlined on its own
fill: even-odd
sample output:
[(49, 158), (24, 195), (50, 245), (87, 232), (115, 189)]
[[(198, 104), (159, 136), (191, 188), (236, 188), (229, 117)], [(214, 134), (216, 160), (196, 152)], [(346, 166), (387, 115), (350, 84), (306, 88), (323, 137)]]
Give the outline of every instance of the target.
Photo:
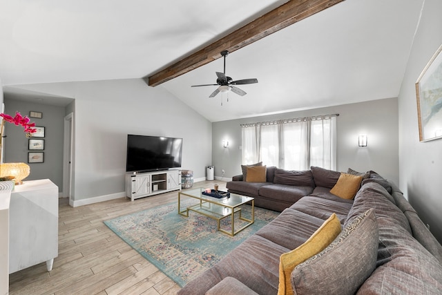
[[(218, 231), (230, 236), (235, 236), (240, 231), (253, 225), (255, 222), (255, 199), (247, 196), (241, 196), (236, 193), (230, 193), (230, 197), (215, 198), (211, 196), (206, 196), (202, 192), (205, 189), (189, 189), (186, 191), (180, 191), (178, 193), (178, 213), (182, 216), (189, 217), (189, 211), (195, 211), (209, 218), (213, 218), (218, 221)], [(190, 206), (181, 207), (182, 199), (192, 198), (198, 200), (196, 204), (191, 204)], [(244, 218), (242, 216), (241, 206), (249, 203), (251, 205), (251, 216), (250, 218)], [(238, 213), (238, 214), (236, 214)], [(242, 225), (239, 229), (235, 229), (235, 216), (238, 215), (240, 220), (247, 222)], [(220, 221), (224, 218), (231, 216), (231, 231), (220, 228)]]

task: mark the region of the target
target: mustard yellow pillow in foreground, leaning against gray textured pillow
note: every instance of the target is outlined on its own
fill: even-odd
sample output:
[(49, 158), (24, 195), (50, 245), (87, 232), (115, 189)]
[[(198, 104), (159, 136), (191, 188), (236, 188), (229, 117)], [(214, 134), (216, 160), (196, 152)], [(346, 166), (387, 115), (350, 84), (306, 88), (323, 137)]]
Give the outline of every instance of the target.
[(296, 265), (323, 251), (340, 234), (340, 231), (339, 218), (333, 213), (304, 244), (280, 256), (278, 295), (294, 294), (290, 276)]

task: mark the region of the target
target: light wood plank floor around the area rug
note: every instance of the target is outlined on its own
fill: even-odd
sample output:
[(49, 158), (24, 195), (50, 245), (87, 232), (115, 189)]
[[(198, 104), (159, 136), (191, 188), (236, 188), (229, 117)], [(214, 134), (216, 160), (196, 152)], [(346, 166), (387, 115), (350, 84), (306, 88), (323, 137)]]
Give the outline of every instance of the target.
[[(195, 182), (213, 187), (218, 180)], [(59, 255), (52, 271), (46, 263), (10, 274), (9, 294), (176, 294), (173, 280), (132, 249), (103, 221), (177, 202), (177, 191), (137, 199), (120, 198), (81, 207), (59, 205)]]

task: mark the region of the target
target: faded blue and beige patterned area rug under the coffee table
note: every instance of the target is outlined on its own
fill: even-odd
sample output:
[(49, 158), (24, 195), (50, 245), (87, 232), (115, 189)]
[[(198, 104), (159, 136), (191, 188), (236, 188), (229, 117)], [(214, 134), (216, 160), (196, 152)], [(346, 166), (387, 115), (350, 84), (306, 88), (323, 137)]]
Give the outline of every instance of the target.
[[(250, 216), (251, 206), (242, 206)], [(236, 213), (238, 214), (238, 213)], [(255, 207), (255, 222), (235, 236), (217, 230), (217, 221), (190, 211), (178, 214), (177, 204), (119, 216), (104, 223), (149, 262), (183, 287), (215, 265), (253, 233), (278, 216), (279, 212)], [(235, 216), (236, 219), (238, 216)], [(231, 218), (222, 220), (222, 229), (231, 227)], [(238, 221), (239, 222), (239, 221)], [(235, 228), (240, 227), (235, 222)]]

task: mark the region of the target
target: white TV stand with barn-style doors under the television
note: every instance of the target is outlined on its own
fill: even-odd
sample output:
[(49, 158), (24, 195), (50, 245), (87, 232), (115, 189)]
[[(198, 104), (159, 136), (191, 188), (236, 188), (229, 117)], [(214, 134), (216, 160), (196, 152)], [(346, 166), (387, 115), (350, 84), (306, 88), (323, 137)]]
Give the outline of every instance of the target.
[(126, 174), (126, 197), (131, 201), (177, 190), (181, 190), (180, 170)]

